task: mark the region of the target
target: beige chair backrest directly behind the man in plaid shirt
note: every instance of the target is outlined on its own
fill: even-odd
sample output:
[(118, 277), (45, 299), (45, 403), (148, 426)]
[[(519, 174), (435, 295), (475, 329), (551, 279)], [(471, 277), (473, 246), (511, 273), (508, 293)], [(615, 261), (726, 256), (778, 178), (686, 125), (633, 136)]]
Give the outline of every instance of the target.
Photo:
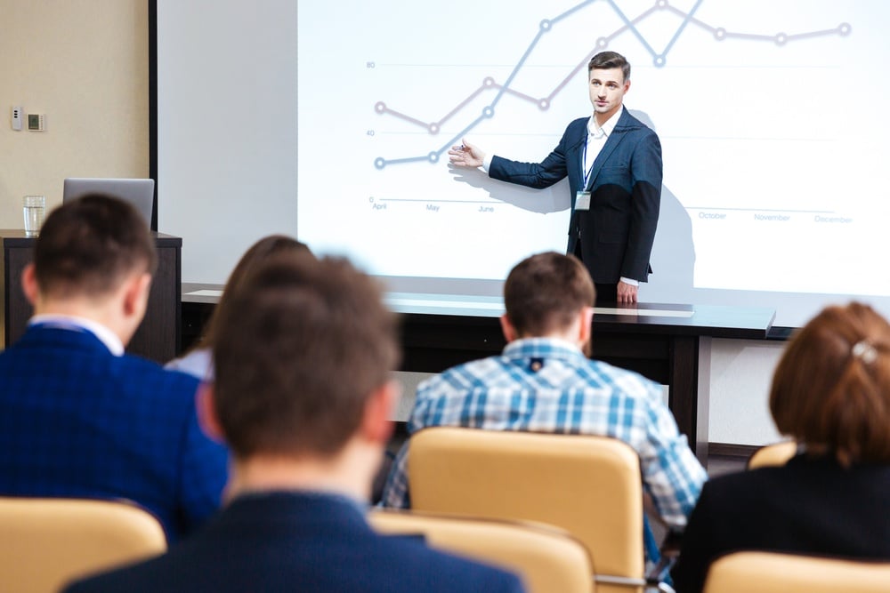
[(423, 429), (408, 475), (412, 509), (556, 525), (587, 547), (597, 575), (643, 578), (640, 461), (617, 439)]

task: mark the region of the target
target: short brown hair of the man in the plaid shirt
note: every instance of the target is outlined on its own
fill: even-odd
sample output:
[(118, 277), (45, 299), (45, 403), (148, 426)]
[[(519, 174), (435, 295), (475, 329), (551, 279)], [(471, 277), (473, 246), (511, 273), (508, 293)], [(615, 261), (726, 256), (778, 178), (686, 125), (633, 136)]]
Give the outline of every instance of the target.
[(595, 298), (584, 264), (574, 255), (557, 252), (520, 261), (504, 284), (506, 317), (521, 336), (543, 336), (568, 327)]

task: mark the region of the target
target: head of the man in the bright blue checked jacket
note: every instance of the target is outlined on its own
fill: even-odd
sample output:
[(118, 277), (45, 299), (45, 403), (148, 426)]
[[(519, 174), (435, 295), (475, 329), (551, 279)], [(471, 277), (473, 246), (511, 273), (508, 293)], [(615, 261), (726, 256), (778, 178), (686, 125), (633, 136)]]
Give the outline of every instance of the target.
[(36, 314), (92, 317), (126, 342), (142, 321), (156, 267), (139, 212), (117, 198), (88, 195), (46, 218), (22, 284)]

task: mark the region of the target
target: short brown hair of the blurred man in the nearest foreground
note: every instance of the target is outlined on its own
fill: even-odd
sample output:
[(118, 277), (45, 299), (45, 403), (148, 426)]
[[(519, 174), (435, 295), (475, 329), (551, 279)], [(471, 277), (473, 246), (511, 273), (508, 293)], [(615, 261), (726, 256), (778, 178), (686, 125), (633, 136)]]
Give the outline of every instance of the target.
[(234, 288), (213, 352), (216, 412), (239, 459), (338, 453), (399, 360), (376, 282), (309, 253), (272, 256)]

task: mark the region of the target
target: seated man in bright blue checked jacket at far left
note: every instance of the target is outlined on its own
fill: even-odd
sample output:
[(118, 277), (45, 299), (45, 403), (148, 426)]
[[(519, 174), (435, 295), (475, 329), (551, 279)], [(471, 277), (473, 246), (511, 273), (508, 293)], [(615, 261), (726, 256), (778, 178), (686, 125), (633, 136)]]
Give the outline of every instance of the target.
[(127, 499), (170, 540), (218, 508), (227, 453), (198, 427), (198, 381), (124, 354), (156, 259), (117, 199), (47, 217), (22, 275), (34, 317), (0, 354), (0, 494)]

